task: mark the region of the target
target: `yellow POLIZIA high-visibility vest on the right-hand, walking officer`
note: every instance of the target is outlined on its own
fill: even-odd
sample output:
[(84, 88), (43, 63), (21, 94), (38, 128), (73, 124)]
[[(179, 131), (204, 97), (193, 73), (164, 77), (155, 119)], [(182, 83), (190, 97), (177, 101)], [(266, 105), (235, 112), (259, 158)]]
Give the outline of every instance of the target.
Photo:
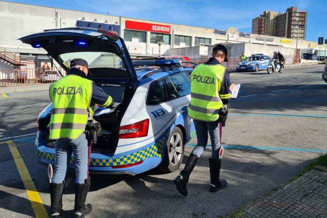
[(219, 118), (222, 101), (219, 96), (225, 68), (218, 65), (198, 65), (191, 74), (191, 101), (188, 114), (195, 120), (213, 122)]

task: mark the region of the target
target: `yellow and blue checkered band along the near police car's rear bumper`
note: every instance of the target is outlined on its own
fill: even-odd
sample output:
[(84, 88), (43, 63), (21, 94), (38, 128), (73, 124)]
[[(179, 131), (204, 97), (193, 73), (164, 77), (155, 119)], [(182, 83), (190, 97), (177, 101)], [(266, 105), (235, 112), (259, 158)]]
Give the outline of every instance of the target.
[[(121, 166), (139, 162), (146, 158), (150, 157), (159, 157), (161, 158), (163, 148), (166, 145), (166, 137), (162, 137), (157, 140), (154, 145), (147, 147), (143, 150), (134, 152), (132, 154), (128, 154), (123, 157), (115, 158), (115, 159), (98, 159), (98, 158), (90, 158), (90, 166)], [(37, 151), (37, 155), (40, 158), (54, 160), (54, 154)], [(69, 163), (73, 163), (74, 157), (71, 157)]]

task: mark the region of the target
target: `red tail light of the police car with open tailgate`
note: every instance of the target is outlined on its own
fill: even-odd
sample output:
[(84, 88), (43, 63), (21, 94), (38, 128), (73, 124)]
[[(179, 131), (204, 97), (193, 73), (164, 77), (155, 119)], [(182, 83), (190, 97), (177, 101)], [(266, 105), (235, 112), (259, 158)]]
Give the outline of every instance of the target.
[(119, 138), (129, 139), (129, 138), (139, 138), (147, 136), (149, 130), (149, 119), (140, 121), (134, 124), (122, 126), (119, 128)]

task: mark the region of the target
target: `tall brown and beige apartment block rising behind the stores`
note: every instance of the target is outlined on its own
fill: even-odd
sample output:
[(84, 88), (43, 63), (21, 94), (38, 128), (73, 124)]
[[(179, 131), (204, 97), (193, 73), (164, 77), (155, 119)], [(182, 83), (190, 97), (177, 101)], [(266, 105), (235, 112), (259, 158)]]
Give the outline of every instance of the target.
[(252, 33), (305, 40), (307, 11), (297, 7), (286, 9), (285, 13), (265, 11), (252, 20)]

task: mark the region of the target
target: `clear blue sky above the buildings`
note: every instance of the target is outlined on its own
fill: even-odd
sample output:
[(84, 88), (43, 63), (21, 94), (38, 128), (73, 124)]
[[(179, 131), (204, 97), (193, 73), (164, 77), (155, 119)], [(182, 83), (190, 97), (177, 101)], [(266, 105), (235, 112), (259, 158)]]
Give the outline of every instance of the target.
[(318, 0), (25, 0), (6, 1), (164, 23), (251, 33), (252, 19), (264, 11), (286, 12), (292, 6), (306, 10), (306, 40), (327, 39), (327, 1)]

